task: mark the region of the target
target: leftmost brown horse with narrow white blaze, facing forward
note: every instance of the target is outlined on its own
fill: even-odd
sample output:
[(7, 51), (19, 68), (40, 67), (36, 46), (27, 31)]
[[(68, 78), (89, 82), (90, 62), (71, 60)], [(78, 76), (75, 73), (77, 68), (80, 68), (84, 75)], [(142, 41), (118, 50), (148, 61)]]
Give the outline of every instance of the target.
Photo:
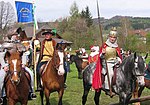
[(9, 64), (9, 71), (5, 77), (6, 97), (9, 105), (15, 105), (20, 102), (21, 105), (27, 105), (29, 96), (29, 77), (27, 77), (25, 70), (21, 66), (22, 53), (7, 52), (5, 59)]

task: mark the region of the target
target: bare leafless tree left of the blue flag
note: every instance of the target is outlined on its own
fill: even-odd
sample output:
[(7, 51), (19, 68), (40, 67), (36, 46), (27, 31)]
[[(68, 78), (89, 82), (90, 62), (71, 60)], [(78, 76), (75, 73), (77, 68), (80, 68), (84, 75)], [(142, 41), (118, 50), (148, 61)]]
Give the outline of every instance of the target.
[(4, 34), (7, 28), (15, 22), (15, 12), (9, 2), (0, 2), (0, 34)]

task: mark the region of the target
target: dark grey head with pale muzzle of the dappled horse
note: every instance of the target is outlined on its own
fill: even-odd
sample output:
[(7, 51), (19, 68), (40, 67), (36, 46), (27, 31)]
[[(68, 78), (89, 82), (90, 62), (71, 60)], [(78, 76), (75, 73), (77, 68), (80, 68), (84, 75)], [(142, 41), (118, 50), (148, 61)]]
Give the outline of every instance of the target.
[(133, 75), (136, 77), (139, 86), (144, 86), (144, 71), (146, 70), (146, 63), (145, 59), (147, 58), (148, 54), (145, 57), (136, 55), (134, 53), (134, 69)]

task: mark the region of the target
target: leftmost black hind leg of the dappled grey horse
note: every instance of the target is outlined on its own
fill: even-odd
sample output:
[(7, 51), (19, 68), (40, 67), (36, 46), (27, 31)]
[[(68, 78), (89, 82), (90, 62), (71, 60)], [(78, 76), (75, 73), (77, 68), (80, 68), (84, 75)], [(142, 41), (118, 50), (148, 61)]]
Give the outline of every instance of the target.
[(87, 96), (88, 96), (88, 93), (90, 91), (90, 88), (91, 88), (91, 85), (88, 85), (88, 84), (84, 83), (84, 93), (83, 93), (83, 96), (82, 96), (82, 105), (85, 105), (85, 103), (87, 101)]

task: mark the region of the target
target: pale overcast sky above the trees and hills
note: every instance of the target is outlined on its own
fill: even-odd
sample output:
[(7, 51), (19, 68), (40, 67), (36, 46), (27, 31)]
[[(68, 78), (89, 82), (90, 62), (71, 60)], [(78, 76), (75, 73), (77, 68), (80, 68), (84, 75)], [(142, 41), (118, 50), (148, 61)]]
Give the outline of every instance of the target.
[[(15, 10), (15, 0), (10, 2)], [(33, 0), (20, 0), (33, 1)], [(34, 0), (37, 20), (48, 22), (70, 16), (70, 7), (76, 2), (79, 12), (88, 6), (93, 18), (97, 18), (97, 0)], [(100, 16), (106, 19), (113, 16), (150, 17), (149, 0), (98, 0)]]

